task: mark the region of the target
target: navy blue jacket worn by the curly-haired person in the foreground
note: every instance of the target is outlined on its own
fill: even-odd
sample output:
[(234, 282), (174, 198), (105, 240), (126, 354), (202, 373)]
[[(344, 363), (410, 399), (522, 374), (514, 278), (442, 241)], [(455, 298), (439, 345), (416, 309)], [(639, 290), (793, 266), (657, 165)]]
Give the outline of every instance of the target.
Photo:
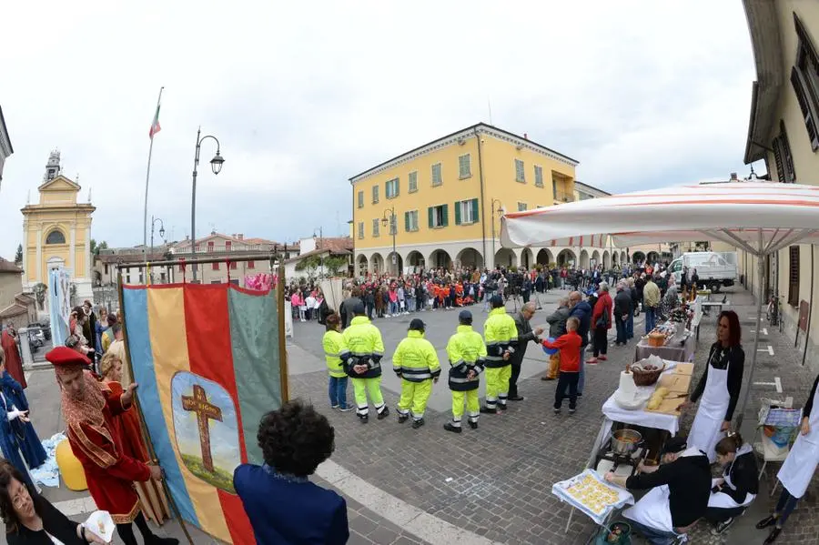
[(347, 502), (333, 490), (253, 464), (234, 471), (233, 486), (258, 545), (343, 545), (349, 539)]

